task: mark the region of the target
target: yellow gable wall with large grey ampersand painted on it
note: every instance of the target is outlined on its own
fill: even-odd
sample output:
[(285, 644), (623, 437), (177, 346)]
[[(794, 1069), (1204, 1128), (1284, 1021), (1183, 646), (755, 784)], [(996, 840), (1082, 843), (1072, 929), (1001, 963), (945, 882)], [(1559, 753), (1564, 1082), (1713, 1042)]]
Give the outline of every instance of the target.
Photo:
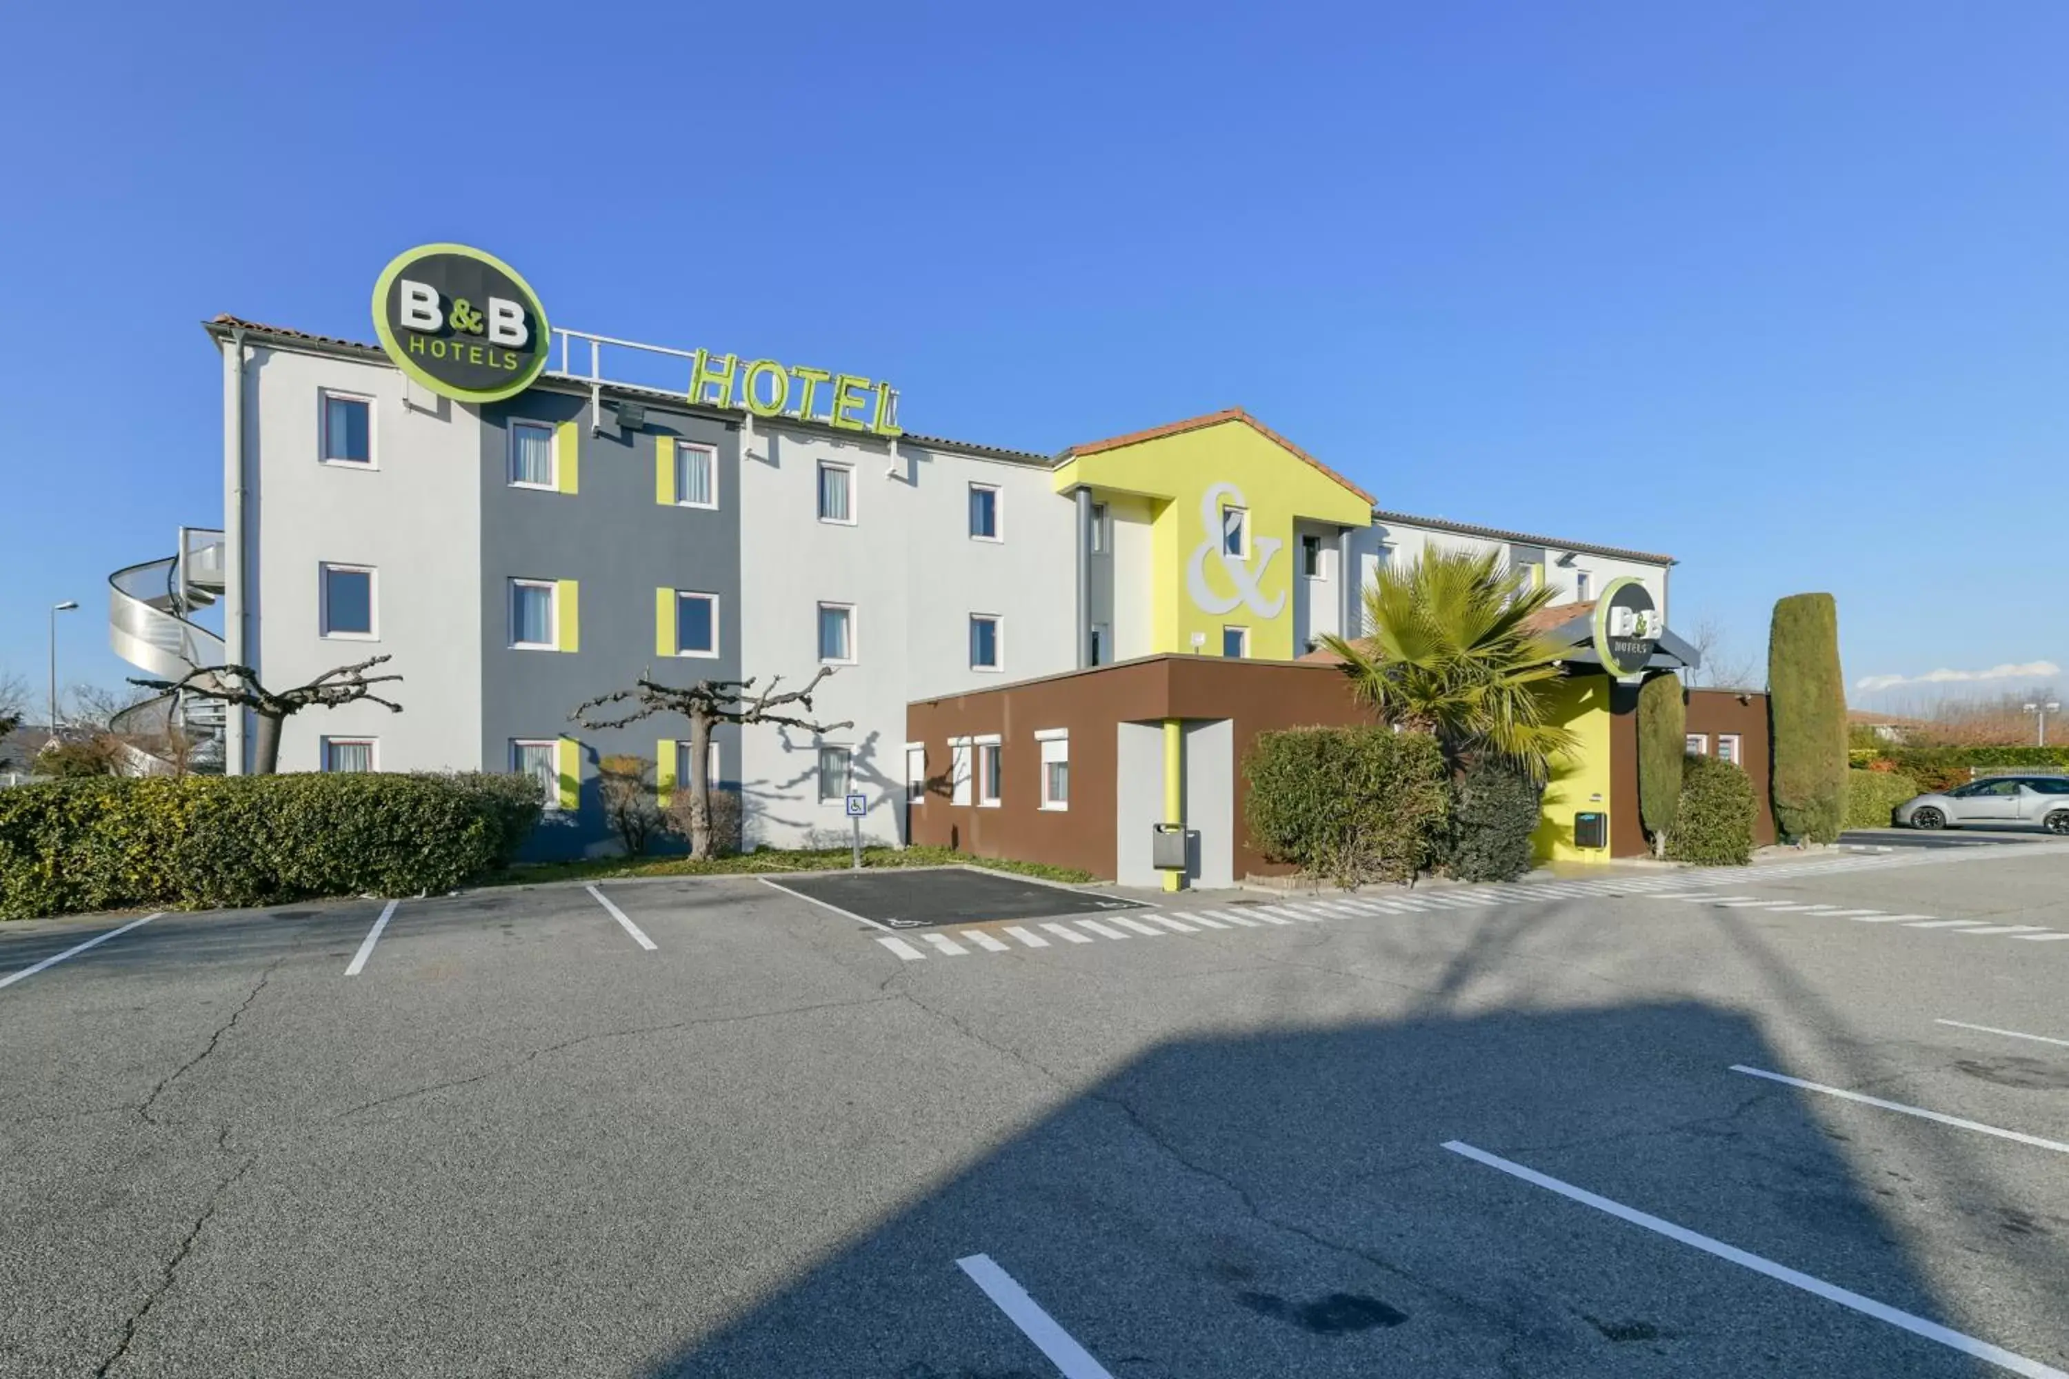
[[(1293, 660), (1306, 649), (1293, 645), (1293, 519), (1372, 525), (1361, 494), (1239, 420), (1080, 455), (1057, 469), (1057, 492), (1080, 484), (1150, 500), (1152, 651), (1221, 655), (1221, 629), (1248, 626), (1252, 657)], [(1223, 507), (1250, 509), (1248, 560), (1221, 558)]]

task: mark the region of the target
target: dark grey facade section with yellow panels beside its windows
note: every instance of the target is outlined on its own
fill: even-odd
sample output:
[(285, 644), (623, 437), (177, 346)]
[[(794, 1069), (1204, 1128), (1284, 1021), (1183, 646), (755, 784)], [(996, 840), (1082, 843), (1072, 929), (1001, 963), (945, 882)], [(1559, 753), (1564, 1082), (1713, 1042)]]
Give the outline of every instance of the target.
[[(515, 488), (513, 420), (577, 424), (577, 492)], [(625, 432), (606, 409), (592, 434), (588, 399), (532, 389), (482, 407), (482, 761), (511, 767), (511, 742), (569, 736), (581, 742), (581, 808), (548, 815), (528, 858), (614, 850), (596, 765), (627, 753), (654, 757), (660, 738), (689, 738), (689, 722), (650, 717), (592, 732), (569, 722), (586, 699), (652, 672), (664, 684), (741, 678), (741, 461), (739, 430), (724, 422), (648, 407)], [(718, 451), (718, 509), (664, 507), (656, 498), (656, 438), (679, 436)], [(577, 581), (577, 649), (511, 647), (511, 579)], [(718, 651), (664, 657), (656, 647), (656, 591), (718, 595)], [(739, 730), (720, 728), (720, 782), (741, 771)]]

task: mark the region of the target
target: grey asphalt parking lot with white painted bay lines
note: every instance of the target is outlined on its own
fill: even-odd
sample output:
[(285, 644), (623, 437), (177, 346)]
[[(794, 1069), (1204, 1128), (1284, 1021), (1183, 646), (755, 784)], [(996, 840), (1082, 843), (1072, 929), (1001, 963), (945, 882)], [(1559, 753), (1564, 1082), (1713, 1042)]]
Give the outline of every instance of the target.
[(2065, 883), (8, 924), (0, 1373), (2061, 1375)]

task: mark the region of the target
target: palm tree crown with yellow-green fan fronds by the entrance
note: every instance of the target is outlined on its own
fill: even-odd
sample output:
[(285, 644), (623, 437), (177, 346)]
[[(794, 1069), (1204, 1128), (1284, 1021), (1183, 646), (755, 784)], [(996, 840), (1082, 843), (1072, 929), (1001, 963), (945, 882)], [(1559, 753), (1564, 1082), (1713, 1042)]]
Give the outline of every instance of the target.
[(1434, 732), (1452, 769), (1486, 753), (1546, 782), (1552, 755), (1579, 742), (1552, 722), (1560, 647), (1533, 629), (1554, 597), (1527, 589), (1523, 571), (1504, 573), (1500, 552), (1430, 550), (1384, 566), (1366, 589), (1370, 637), (1322, 643), (1343, 657), (1359, 703)]

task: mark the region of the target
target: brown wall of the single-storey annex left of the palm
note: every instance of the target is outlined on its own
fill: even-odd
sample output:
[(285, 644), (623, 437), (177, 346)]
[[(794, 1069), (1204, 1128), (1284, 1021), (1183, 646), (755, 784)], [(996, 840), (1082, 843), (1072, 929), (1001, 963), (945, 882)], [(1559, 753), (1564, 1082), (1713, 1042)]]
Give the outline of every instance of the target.
[[(1250, 848), (1241, 827), (1243, 759), (1260, 732), (1312, 724), (1370, 724), (1337, 666), (1155, 655), (972, 695), (906, 705), (906, 740), (927, 753), (925, 804), (912, 808), (912, 841), (977, 856), (1078, 866), (1113, 877), (1115, 757), (1121, 722), (1233, 719), (1235, 875), (1281, 872)], [(1043, 728), (1070, 730), (1070, 808), (1041, 808)], [(999, 806), (950, 804), (948, 740), (999, 734)], [(974, 784), (972, 784), (974, 796)]]

